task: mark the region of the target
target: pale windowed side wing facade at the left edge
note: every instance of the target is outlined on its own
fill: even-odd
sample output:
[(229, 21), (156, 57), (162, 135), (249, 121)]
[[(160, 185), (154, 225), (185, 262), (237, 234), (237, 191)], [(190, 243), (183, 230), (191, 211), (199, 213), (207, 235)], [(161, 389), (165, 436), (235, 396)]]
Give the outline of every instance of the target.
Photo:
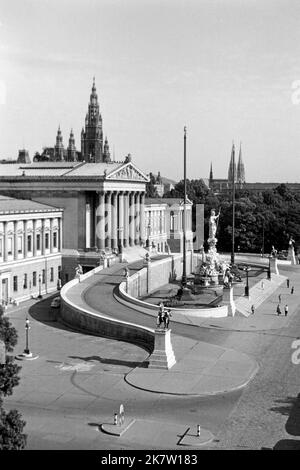
[(61, 209), (0, 196), (2, 305), (56, 290), (61, 251)]

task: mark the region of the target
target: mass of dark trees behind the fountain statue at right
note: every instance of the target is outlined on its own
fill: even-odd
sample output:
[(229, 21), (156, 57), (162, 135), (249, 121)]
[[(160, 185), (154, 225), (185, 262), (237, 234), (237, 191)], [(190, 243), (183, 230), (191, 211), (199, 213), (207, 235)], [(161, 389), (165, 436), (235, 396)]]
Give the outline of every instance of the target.
[[(165, 197), (183, 197), (183, 180)], [(215, 195), (202, 180), (187, 180), (187, 197), (194, 204), (204, 204), (205, 239), (208, 234), (208, 218), (211, 209), (220, 209), (218, 224), (218, 249), (230, 251), (232, 245), (231, 192)], [(193, 224), (194, 225), (194, 224)], [(252, 193), (247, 189), (236, 190), (235, 247), (241, 252), (270, 252), (272, 245), (286, 250), (290, 237), (295, 247), (300, 247), (300, 195), (287, 185), (280, 184), (273, 190)]]

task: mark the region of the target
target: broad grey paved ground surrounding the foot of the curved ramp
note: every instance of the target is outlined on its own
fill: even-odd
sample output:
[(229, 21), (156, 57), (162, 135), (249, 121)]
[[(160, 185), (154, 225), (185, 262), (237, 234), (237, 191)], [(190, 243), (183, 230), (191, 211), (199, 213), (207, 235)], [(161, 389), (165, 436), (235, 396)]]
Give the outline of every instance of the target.
[[(251, 317), (210, 319), (201, 326), (172, 323), (177, 364), (165, 372), (145, 367), (149, 352), (141, 346), (63, 325), (57, 310), (50, 308), (50, 297), (10, 310), (8, 316), (19, 333), (15, 354), (24, 349), (29, 313), (30, 349), (39, 355), (20, 362), (20, 385), (5, 400), (7, 408), (16, 407), (26, 420), (27, 448), (179, 449), (185, 442), (185, 448), (196, 449), (193, 436), (198, 424), (214, 436), (203, 448), (280, 447), (281, 440), (289, 441), (286, 413), (297, 403), (300, 386), (290, 361), (299, 325), (300, 286), (299, 268), (284, 269), (295, 285), (294, 294), (282, 284)], [(105, 296), (98, 283), (94, 306), (124, 320), (128, 307), (116, 308), (116, 299), (107, 295), (122, 276), (118, 270), (120, 266), (114, 266), (102, 273)], [(90, 296), (85, 293), (91, 308), (95, 292), (92, 288)], [(279, 293), (282, 304), (289, 304), (288, 317), (275, 313)], [(136, 322), (138, 317), (153, 327), (153, 318), (136, 311), (130, 311), (128, 320)], [(287, 394), (295, 400), (286, 413), (271, 411), (270, 403), (276, 409), (275, 401), (284, 402)], [(120, 437), (101, 432), (101, 424), (113, 423), (121, 403), (133, 424)], [(255, 426), (249, 421), (253, 414)], [(268, 434), (258, 425), (265, 419)], [(183, 438), (188, 429), (191, 438)]]

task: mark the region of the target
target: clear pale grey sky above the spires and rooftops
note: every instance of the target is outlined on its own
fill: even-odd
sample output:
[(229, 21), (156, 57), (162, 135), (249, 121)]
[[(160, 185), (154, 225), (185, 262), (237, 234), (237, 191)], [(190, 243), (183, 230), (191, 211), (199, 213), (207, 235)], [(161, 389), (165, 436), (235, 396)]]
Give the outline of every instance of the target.
[(80, 150), (93, 77), (111, 154), (145, 173), (300, 181), (299, 0), (0, 0), (0, 158)]

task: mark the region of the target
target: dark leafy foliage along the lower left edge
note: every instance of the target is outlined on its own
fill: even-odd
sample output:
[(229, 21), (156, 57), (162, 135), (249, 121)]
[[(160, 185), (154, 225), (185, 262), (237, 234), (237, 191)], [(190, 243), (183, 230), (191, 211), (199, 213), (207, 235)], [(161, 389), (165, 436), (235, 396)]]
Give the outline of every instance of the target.
[[(18, 334), (9, 319), (4, 316), (0, 306), (0, 340), (7, 352), (12, 352), (17, 344)], [(11, 395), (19, 383), (21, 367), (14, 363), (14, 358), (6, 354), (5, 364), (0, 364), (0, 450), (20, 450), (26, 445), (27, 436), (23, 434), (25, 421), (17, 410), (5, 411), (3, 397)]]

